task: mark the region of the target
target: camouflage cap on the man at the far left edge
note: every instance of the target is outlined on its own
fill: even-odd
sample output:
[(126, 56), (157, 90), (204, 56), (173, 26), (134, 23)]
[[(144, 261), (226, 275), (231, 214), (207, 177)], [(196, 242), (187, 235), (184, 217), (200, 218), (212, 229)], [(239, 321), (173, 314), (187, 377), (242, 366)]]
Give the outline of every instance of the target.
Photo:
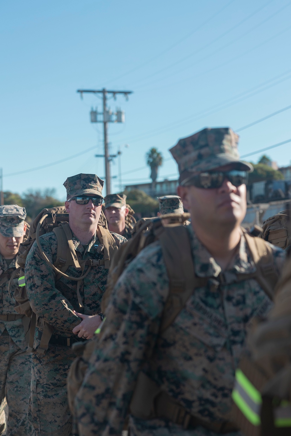
[(17, 204), (0, 206), (0, 233), (6, 238), (14, 236), (20, 238), (23, 235), (25, 208)]

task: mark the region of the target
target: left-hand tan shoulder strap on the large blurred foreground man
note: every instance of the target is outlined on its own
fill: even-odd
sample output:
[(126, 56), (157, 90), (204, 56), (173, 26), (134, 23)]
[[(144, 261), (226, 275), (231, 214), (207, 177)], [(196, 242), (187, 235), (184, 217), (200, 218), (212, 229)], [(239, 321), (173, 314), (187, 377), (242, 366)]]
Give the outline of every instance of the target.
[(161, 321), (161, 331), (164, 331), (181, 312), (195, 288), (205, 286), (208, 278), (195, 275), (189, 234), (185, 226), (164, 227), (159, 240), (170, 283)]

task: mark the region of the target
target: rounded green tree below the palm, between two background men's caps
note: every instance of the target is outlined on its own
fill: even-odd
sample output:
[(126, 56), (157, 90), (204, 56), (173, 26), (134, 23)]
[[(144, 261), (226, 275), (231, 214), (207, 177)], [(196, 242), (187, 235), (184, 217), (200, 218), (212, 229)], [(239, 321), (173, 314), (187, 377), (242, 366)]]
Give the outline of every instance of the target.
[(127, 195), (127, 203), (134, 209), (134, 212), (142, 217), (153, 217), (157, 215), (159, 203), (154, 198), (147, 195), (144, 191), (133, 189), (124, 191)]

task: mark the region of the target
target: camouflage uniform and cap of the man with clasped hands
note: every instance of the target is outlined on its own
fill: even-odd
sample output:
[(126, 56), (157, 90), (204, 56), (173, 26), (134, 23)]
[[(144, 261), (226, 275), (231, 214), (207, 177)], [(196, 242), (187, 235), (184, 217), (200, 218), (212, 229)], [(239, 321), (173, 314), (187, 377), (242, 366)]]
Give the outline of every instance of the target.
[[(67, 194), (101, 196), (100, 179), (95, 175), (85, 174), (69, 177), (65, 182)], [(86, 177), (87, 176), (87, 177)], [(95, 177), (95, 179), (94, 179)], [(120, 246), (126, 241), (120, 235), (111, 233)], [(51, 262), (56, 260), (57, 239), (55, 233), (50, 232), (40, 237), (41, 246)], [(80, 259), (104, 259), (103, 251), (97, 251), (99, 239), (94, 235), (89, 245), (84, 249), (78, 238), (73, 234), (72, 242)], [(69, 276), (79, 277), (81, 272), (75, 266), (69, 266), (66, 271)], [(31, 367), (31, 396), (28, 416), (34, 426), (34, 435), (62, 435), (71, 434), (72, 415), (68, 408), (66, 378), (72, 361), (78, 356), (71, 347), (61, 344), (62, 338), (67, 343), (69, 338), (82, 341), (72, 333), (72, 329), (80, 324), (81, 319), (70, 310), (96, 315), (101, 312), (100, 303), (106, 290), (108, 269), (104, 266), (93, 267), (82, 280), (80, 294), (84, 307), (79, 307), (77, 297), (77, 281), (62, 277), (55, 283), (55, 272), (42, 259), (38, 246), (34, 243), (27, 256), (25, 277), (30, 304), (40, 317), (36, 329)], [(68, 307), (68, 309), (67, 309)], [(42, 321), (54, 327), (48, 350), (40, 354), (40, 330)], [(72, 340), (71, 340), (72, 342)]]

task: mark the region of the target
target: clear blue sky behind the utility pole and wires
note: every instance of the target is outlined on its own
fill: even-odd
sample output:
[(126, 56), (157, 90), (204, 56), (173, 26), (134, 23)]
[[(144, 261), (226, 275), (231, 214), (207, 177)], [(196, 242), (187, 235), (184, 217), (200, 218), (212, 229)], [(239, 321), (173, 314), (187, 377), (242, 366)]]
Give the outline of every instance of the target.
[[(66, 177), (104, 176), (102, 125), (89, 122), (93, 95), (129, 89), (111, 109), (111, 152), (123, 147), (123, 184), (149, 180), (145, 153), (164, 156), (159, 178), (175, 178), (168, 149), (206, 126), (239, 129), (291, 105), (291, 2), (287, 0), (31, 0), (0, 3), (0, 145), (11, 174), (94, 150), (42, 170), (4, 177), (4, 191), (55, 188)], [(291, 138), (291, 109), (240, 132), (240, 153)], [(261, 153), (260, 153), (261, 154)], [(257, 161), (260, 154), (250, 157)], [(290, 164), (291, 143), (267, 154)], [(167, 160), (168, 159), (168, 160)], [(112, 174), (118, 174), (117, 162)], [(113, 190), (119, 191), (118, 179)]]

